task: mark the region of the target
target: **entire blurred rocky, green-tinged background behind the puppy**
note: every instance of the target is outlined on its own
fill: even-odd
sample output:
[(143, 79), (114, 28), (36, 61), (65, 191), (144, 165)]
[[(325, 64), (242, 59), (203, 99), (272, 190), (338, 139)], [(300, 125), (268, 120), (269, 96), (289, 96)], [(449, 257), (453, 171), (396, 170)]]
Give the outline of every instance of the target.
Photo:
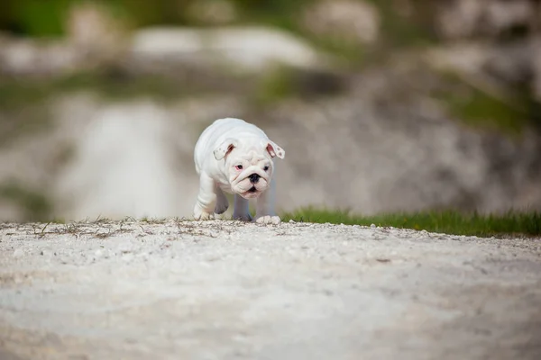
[(3, 0), (0, 220), (191, 216), (222, 117), (280, 211), (541, 210), (537, 0)]

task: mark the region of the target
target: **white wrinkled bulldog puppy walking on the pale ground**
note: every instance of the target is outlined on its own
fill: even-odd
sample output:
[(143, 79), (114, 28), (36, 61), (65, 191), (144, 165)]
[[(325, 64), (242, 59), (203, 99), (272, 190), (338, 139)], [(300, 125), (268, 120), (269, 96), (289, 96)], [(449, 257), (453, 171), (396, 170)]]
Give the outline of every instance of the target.
[(207, 220), (224, 213), (229, 207), (226, 192), (234, 193), (234, 219), (251, 221), (248, 201), (257, 199), (256, 221), (280, 223), (274, 212), (273, 158), (285, 155), (251, 123), (234, 118), (214, 121), (197, 140), (194, 152), (199, 175), (194, 218)]

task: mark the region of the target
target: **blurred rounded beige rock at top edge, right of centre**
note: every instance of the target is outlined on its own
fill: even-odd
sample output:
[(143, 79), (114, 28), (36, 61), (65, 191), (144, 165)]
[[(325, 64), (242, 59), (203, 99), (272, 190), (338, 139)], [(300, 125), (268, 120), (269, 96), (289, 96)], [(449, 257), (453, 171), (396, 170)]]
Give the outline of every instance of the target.
[(378, 40), (381, 19), (378, 9), (366, 1), (320, 0), (307, 6), (302, 25), (317, 36), (371, 44)]

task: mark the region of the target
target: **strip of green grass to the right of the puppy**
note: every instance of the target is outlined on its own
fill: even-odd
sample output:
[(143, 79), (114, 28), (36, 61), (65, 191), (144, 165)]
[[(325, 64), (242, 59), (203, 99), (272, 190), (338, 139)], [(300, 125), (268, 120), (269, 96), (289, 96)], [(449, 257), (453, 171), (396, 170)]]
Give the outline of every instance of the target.
[(425, 229), (430, 232), (478, 237), (541, 235), (541, 213), (536, 211), (509, 211), (499, 215), (459, 211), (420, 211), (362, 216), (349, 211), (307, 208), (283, 214), (282, 220), (363, 226), (375, 224), (381, 227)]

